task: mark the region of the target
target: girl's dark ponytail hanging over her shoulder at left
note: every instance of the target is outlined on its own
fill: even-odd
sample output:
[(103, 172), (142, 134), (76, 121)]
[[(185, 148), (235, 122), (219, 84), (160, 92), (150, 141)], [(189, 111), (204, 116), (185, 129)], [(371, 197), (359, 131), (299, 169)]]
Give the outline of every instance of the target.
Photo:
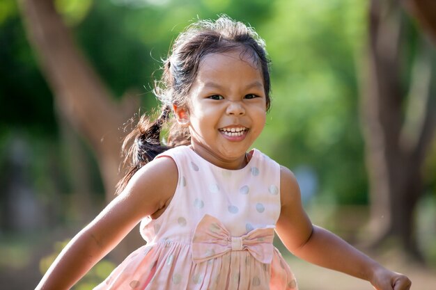
[(142, 166), (171, 148), (160, 142), (162, 126), (169, 121), (170, 113), (171, 107), (164, 106), (162, 113), (154, 122), (150, 122), (146, 115), (142, 115), (137, 126), (125, 137), (121, 147), (122, 156), (124, 156), (122, 167), (128, 169), (126, 175), (116, 185), (116, 194), (123, 191), (132, 176)]

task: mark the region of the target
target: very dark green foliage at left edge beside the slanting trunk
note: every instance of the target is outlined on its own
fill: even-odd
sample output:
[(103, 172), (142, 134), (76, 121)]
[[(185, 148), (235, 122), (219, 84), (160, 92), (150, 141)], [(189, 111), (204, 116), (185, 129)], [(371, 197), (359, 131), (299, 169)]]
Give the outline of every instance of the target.
[(54, 136), (53, 98), (14, 11), (0, 22), (0, 134), (24, 129)]

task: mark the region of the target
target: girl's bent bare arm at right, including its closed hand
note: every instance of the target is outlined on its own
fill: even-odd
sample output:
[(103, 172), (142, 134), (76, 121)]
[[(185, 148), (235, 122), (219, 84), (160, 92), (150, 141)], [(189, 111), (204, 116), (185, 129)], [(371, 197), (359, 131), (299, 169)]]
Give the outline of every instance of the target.
[(311, 224), (304, 212), (297, 181), (281, 168), (281, 214), (277, 234), (294, 255), (318, 266), (368, 280), (377, 290), (407, 290), (410, 280), (387, 270), (332, 232)]

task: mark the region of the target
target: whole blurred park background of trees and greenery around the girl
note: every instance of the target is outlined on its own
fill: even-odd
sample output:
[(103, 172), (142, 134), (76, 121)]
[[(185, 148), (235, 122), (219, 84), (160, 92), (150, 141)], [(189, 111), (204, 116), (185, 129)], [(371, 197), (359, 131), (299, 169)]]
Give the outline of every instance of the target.
[[(161, 59), (185, 26), (221, 13), (254, 26), (272, 59), (254, 147), (295, 172), (313, 223), (435, 289), (434, 1), (1, 0), (2, 289), (36, 287), (114, 198), (123, 136), (156, 110)], [(75, 289), (141, 243), (135, 229)], [(372, 289), (277, 247), (302, 290)]]

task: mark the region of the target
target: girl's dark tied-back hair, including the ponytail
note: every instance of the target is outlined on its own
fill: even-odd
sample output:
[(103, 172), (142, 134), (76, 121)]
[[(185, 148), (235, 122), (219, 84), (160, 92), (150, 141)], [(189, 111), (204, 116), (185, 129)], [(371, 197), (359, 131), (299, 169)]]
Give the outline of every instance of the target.
[[(262, 70), (267, 110), (270, 108), (270, 61), (265, 42), (256, 31), (225, 15), (215, 22), (199, 20), (189, 25), (173, 43), (169, 57), (164, 61), (162, 78), (155, 83), (155, 95), (163, 105), (161, 115), (153, 122), (142, 115), (137, 127), (123, 142), (124, 165), (130, 164), (127, 174), (118, 182), (116, 193), (123, 191), (132, 175), (155, 156), (171, 147), (190, 143), (187, 128), (178, 126), (171, 116), (172, 106), (187, 106), (189, 90), (205, 56), (235, 50), (241, 50), (241, 57), (258, 63)], [(171, 127), (166, 144), (162, 145), (160, 131), (166, 122)]]

